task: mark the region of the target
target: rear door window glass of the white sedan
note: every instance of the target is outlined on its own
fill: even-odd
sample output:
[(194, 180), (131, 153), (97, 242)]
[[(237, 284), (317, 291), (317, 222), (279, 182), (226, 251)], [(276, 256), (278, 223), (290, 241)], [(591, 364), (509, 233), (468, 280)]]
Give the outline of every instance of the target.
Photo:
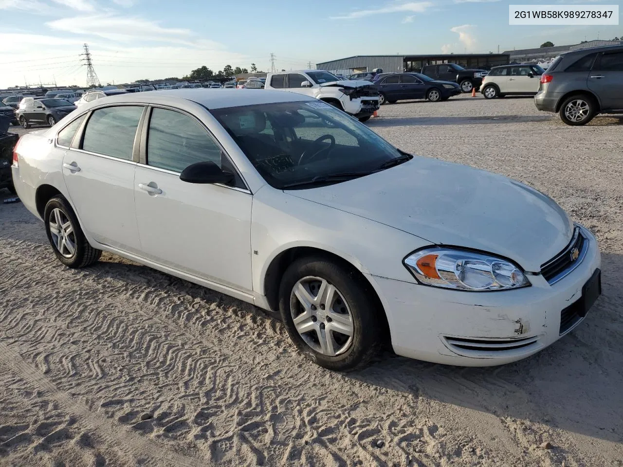
[(141, 106), (116, 106), (95, 110), (84, 131), (82, 149), (130, 161)]

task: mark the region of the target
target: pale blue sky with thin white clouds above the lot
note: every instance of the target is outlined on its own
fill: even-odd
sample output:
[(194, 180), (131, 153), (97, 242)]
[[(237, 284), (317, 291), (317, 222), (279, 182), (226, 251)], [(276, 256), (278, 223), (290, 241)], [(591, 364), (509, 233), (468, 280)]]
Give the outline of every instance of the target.
[[(621, 1), (621, 0), (617, 0)], [(616, 4), (612, 0), (564, 0)], [(504, 0), (0, 0), (0, 88), (181, 77), (206, 65), (297, 70), (351, 55), (488, 53), (623, 35), (619, 26), (509, 26)], [(623, 8), (621, 8), (623, 10)]]

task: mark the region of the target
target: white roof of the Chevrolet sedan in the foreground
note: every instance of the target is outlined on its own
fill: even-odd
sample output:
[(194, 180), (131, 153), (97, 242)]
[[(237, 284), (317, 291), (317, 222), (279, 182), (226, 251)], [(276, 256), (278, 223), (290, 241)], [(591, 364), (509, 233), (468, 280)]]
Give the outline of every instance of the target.
[[(104, 101), (105, 99), (105, 101)], [(196, 102), (209, 109), (239, 107), (244, 105), (272, 104), (279, 102), (297, 102), (315, 100), (312, 97), (285, 91), (264, 90), (261, 93), (245, 91), (244, 89), (223, 89), (219, 92), (205, 88), (167, 89), (148, 93), (123, 93), (110, 96), (93, 103), (146, 103), (175, 105), (176, 101), (188, 100)]]

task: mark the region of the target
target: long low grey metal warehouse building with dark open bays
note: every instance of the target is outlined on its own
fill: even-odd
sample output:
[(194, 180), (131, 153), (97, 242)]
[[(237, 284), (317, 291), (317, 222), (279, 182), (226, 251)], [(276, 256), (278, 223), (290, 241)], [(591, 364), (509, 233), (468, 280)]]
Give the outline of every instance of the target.
[(355, 55), (346, 59), (316, 64), (318, 70), (343, 75), (363, 73), (383, 68), (391, 72), (419, 72), (424, 65), (458, 64), (465, 68), (485, 68), (506, 65), (510, 54), (441, 54), (441, 55)]

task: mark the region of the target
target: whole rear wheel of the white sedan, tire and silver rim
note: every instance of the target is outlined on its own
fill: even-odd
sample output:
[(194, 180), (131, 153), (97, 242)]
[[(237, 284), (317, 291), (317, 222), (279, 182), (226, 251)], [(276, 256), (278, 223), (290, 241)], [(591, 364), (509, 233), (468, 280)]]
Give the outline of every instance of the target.
[(45, 233), (60, 262), (70, 268), (83, 268), (97, 262), (102, 250), (87, 242), (74, 210), (64, 196), (56, 196), (45, 205)]

